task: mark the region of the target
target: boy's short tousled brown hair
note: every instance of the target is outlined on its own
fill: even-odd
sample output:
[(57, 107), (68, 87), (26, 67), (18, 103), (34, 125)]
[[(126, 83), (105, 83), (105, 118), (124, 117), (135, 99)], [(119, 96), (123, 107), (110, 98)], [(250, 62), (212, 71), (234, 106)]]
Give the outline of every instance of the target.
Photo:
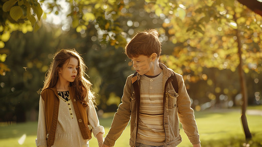
[(155, 29), (137, 33), (125, 47), (125, 54), (132, 59), (139, 55), (150, 56), (156, 53), (161, 54), (161, 42), (158, 39), (158, 32)]

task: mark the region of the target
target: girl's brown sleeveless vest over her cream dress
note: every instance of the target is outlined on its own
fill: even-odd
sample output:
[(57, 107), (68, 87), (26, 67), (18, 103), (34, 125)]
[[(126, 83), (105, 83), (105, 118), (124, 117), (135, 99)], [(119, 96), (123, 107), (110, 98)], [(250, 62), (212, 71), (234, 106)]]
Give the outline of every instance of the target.
[[(81, 133), (84, 139), (92, 138), (92, 130), (89, 129), (88, 117), (86, 112), (87, 102), (76, 100), (75, 90), (72, 86), (69, 87), (70, 97), (73, 100), (73, 107), (78, 120)], [(55, 129), (58, 118), (59, 97), (56, 88), (47, 88), (42, 91), (41, 96), (45, 101), (46, 110), (46, 130), (47, 130), (47, 145), (51, 147), (54, 144)]]

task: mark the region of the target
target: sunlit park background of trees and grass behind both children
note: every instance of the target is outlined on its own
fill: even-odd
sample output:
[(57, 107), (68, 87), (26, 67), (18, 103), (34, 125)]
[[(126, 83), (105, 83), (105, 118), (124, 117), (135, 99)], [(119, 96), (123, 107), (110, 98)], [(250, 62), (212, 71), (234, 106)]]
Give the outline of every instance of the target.
[[(35, 147), (39, 94), (59, 49), (83, 57), (107, 133), (135, 72), (124, 46), (151, 28), (160, 62), (183, 75), (202, 146), (262, 147), (261, 0), (1, 0), (0, 8), (0, 147)], [(190, 147), (180, 128), (179, 147)], [(129, 126), (116, 147), (128, 142)]]

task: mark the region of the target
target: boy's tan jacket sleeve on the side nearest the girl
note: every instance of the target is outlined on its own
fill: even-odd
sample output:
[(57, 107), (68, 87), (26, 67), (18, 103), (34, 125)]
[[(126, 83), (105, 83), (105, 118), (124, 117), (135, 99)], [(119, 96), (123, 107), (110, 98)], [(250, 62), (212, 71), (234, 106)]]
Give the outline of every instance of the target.
[(104, 144), (110, 147), (113, 147), (115, 145), (116, 140), (120, 137), (120, 135), (122, 134), (123, 130), (126, 128), (130, 120), (131, 77), (132, 75), (128, 76), (126, 79), (124, 90), (123, 90), (123, 96), (121, 98), (121, 103), (119, 104), (119, 108), (114, 115), (111, 128), (108, 134), (106, 135), (104, 141)]

